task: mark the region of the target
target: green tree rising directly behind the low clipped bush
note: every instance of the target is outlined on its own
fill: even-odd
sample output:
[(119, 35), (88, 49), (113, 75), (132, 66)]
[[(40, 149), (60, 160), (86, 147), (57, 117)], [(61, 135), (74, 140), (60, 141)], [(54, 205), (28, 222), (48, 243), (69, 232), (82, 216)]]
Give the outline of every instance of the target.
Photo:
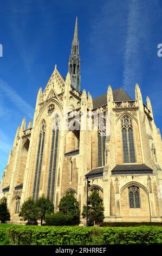
[(69, 192), (62, 197), (59, 204), (59, 211), (66, 215), (72, 215), (75, 223), (79, 223), (80, 209), (79, 203), (74, 197), (73, 192)]

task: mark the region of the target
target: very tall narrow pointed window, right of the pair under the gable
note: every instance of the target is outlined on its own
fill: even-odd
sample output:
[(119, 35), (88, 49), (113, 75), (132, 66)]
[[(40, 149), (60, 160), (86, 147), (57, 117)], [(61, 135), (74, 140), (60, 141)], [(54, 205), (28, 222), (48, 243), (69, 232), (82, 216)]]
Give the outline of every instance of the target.
[[(59, 127), (60, 127), (60, 118), (59, 118), (59, 115), (55, 115), (55, 118), (53, 121), (53, 137), (51, 141), (48, 190), (47, 190), (47, 196), (51, 198), (51, 202), (53, 202), (54, 200), (57, 148), (58, 148), (58, 141), (59, 141)], [(59, 179), (60, 179), (60, 176), (59, 176)], [(59, 180), (59, 184), (60, 184), (60, 180)]]

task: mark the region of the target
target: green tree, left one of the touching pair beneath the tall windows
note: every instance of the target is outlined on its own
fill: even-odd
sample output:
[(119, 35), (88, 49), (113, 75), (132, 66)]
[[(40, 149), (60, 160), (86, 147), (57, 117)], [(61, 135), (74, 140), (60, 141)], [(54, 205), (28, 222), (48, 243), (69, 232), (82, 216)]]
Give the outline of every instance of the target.
[(21, 206), (19, 216), (22, 217), (23, 221), (28, 221), (33, 223), (37, 220), (37, 211), (35, 207), (35, 201), (33, 198), (29, 197)]

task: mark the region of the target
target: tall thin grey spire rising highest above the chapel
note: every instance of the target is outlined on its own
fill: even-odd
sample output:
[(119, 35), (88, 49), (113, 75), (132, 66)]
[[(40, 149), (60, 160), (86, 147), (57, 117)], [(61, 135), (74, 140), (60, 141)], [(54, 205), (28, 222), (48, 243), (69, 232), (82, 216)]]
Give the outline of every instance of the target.
[(72, 86), (80, 92), (80, 56), (79, 56), (79, 40), (77, 29), (77, 15), (75, 22), (74, 38), (72, 41), (72, 50), (69, 58), (68, 72), (71, 77)]

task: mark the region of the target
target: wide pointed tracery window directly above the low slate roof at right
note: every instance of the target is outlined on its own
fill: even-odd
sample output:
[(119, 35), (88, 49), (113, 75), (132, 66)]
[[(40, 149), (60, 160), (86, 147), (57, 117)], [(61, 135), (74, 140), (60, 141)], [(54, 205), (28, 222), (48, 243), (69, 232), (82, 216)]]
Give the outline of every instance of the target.
[(135, 163), (135, 149), (132, 119), (125, 115), (121, 119), (124, 163)]

